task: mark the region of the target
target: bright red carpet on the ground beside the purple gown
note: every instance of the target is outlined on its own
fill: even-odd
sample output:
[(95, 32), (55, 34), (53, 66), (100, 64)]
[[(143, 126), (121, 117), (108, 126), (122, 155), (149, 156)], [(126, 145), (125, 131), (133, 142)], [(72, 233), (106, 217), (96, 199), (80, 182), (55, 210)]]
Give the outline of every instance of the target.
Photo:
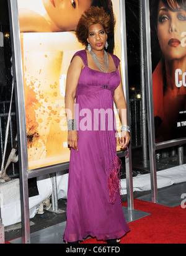
[[(122, 238), (121, 244), (186, 243), (186, 209), (182, 209), (181, 206), (168, 208), (139, 199), (135, 199), (135, 209), (151, 215), (129, 223), (131, 231)], [(104, 244), (104, 242), (91, 238), (84, 240), (82, 244)]]

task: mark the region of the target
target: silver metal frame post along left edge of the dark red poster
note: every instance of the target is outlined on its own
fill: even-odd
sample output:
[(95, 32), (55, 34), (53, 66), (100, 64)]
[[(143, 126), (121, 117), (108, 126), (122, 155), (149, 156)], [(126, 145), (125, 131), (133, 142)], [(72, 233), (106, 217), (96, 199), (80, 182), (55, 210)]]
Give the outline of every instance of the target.
[(154, 104), (153, 104), (153, 80), (151, 62), (151, 29), (149, 0), (143, 1), (143, 22), (144, 22), (144, 63), (146, 96), (148, 110), (148, 138), (149, 138), (149, 162), (151, 170), (151, 196), (152, 202), (157, 203), (157, 173), (156, 173), (156, 145), (154, 132)]

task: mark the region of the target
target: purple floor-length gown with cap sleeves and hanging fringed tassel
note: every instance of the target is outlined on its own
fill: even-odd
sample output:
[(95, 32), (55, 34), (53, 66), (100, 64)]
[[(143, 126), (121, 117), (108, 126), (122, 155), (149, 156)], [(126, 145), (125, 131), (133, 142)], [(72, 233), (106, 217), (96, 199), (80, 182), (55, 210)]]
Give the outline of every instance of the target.
[(120, 60), (112, 55), (116, 71), (102, 73), (89, 68), (86, 50), (76, 55), (85, 66), (76, 91), (79, 150), (71, 149), (63, 239), (74, 242), (88, 235), (97, 240), (118, 239), (130, 231), (118, 186), (120, 161), (113, 112), (113, 94), (120, 84)]

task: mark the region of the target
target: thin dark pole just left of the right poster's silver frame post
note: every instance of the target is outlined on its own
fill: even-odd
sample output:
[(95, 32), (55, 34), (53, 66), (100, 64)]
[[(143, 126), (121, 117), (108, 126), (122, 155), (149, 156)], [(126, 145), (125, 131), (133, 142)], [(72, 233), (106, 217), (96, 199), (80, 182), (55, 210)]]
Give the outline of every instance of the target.
[(143, 166), (148, 167), (148, 131), (147, 131), (147, 110), (146, 110), (146, 88), (144, 69), (144, 38), (143, 38), (143, 0), (139, 0), (139, 45), (140, 45), (140, 71), (141, 71), (141, 122), (142, 122), (142, 148)]

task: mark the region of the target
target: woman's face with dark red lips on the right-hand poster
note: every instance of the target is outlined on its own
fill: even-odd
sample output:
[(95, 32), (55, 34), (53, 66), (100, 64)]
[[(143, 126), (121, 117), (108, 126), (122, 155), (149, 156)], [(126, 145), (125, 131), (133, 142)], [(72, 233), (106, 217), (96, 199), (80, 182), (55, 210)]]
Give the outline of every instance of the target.
[(186, 56), (186, 47), (182, 47), (182, 32), (186, 31), (186, 12), (170, 11), (159, 1), (157, 15), (157, 37), (164, 57), (167, 60), (180, 59)]

